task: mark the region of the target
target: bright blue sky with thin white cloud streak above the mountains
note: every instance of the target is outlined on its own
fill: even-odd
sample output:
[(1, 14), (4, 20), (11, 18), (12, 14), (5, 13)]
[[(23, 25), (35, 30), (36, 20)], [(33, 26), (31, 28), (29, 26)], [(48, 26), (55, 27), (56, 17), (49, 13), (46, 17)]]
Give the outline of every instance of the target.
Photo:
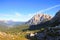
[(28, 21), (37, 13), (54, 16), (60, 0), (0, 0), (0, 20)]

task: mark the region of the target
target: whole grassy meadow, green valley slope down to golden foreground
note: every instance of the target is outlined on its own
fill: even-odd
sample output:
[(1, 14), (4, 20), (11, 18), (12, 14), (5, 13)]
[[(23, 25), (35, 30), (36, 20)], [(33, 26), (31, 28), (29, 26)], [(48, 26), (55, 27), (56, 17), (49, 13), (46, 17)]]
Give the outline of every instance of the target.
[(0, 40), (28, 40), (26, 35), (37, 32), (38, 30), (27, 30), (29, 25), (19, 25), (11, 28), (0, 29)]

